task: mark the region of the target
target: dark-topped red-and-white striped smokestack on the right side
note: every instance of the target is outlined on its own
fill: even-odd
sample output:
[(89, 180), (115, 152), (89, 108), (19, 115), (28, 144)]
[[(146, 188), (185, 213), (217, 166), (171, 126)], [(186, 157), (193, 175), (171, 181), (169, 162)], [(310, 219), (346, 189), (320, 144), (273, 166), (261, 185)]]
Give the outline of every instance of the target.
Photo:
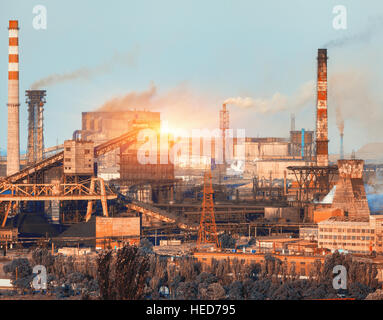
[(317, 166), (328, 166), (327, 49), (318, 49), (317, 76)]

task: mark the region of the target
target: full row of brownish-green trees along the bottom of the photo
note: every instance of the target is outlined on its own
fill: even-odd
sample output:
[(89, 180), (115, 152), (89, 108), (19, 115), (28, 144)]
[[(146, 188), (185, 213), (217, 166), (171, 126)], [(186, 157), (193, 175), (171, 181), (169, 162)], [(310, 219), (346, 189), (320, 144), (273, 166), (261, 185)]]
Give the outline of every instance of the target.
[[(294, 270), (275, 256), (265, 263), (244, 264), (238, 260), (213, 260), (203, 265), (192, 257), (169, 259), (156, 255), (150, 242), (103, 251), (97, 259), (52, 256), (36, 249), (31, 261), (16, 259), (4, 267), (14, 285), (32, 292), (34, 265), (44, 265), (48, 273), (48, 294), (56, 298), (82, 299), (364, 299), (379, 284), (377, 270), (369, 262), (335, 252), (323, 264), (318, 261), (308, 279), (299, 279)], [(347, 270), (347, 289), (333, 288), (333, 268)]]

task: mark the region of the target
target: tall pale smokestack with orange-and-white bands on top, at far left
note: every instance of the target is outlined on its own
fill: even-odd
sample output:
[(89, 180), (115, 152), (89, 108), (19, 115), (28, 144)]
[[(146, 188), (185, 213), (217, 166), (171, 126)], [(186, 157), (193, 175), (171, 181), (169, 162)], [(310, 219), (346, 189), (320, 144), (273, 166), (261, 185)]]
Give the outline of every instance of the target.
[(19, 22), (9, 21), (7, 175), (20, 170)]

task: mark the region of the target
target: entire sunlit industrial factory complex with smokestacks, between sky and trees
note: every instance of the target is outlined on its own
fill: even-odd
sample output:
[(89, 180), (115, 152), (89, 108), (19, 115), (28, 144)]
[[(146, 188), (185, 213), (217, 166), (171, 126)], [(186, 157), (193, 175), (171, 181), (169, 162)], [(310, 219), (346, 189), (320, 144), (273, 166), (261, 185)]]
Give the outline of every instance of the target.
[[(219, 129), (177, 136), (163, 130), (161, 112), (137, 105), (82, 112), (81, 128), (47, 146), (49, 90), (19, 92), (19, 22), (9, 21), (8, 29), (8, 139), (0, 159), (5, 252), (44, 245), (54, 254), (80, 254), (146, 238), (159, 255), (205, 265), (262, 264), (272, 255), (305, 278), (338, 250), (370, 259), (383, 280), (383, 212), (371, 210), (367, 194), (383, 165), (359, 154), (346, 159), (343, 132), (339, 155), (329, 155), (330, 50), (312, 56), (315, 128), (296, 128), (291, 113), (284, 137), (250, 137), (232, 129), (230, 104), (222, 103), (212, 120)], [(21, 110), (28, 124), (20, 125)], [(25, 154), (20, 128), (28, 128)], [(225, 248), (224, 234), (236, 245)]]

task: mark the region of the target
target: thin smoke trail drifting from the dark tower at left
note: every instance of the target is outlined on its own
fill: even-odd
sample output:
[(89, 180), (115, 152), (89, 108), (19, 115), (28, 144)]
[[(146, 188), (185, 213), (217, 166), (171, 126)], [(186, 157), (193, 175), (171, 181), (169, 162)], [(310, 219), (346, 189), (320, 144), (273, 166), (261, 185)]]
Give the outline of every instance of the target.
[(91, 79), (95, 76), (110, 72), (115, 65), (119, 64), (127, 64), (129, 66), (133, 66), (135, 64), (136, 55), (137, 48), (126, 54), (116, 53), (112, 59), (95, 67), (82, 67), (68, 73), (54, 73), (32, 83), (31, 89), (38, 90), (73, 80)]

